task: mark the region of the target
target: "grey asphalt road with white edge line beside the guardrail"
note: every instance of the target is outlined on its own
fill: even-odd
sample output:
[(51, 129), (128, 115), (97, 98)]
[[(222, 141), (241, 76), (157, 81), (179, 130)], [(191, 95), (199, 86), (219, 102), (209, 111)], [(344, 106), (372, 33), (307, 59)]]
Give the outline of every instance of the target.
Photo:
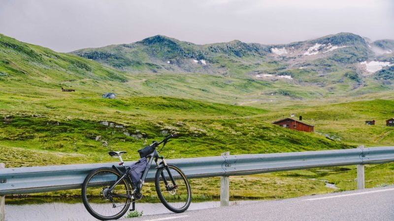
[[(125, 219), (126, 220), (126, 219)], [(394, 221), (394, 186), (168, 213), (132, 221)]]

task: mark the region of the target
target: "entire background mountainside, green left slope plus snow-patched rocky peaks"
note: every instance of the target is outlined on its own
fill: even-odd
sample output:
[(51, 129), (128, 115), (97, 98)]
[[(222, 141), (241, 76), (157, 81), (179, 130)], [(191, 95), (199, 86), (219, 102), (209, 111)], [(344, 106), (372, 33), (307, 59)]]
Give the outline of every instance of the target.
[(394, 89), (393, 54), (376, 55), (372, 45), (351, 33), (287, 45), (236, 40), (196, 45), (157, 35), (74, 52), (81, 57), (0, 35), (0, 84), (4, 96), (11, 96), (16, 85), (20, 94), (31, 90), (57, 96), (59, 88), (72, 87), (83, 97), (114, 92), (257, 107), (379, 97)]

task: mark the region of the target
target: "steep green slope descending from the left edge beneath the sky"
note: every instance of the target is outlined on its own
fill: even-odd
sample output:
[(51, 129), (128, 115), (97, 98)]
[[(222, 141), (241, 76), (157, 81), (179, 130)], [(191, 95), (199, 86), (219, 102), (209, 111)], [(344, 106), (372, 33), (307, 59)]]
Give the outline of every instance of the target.
[[(61, 88), (85, 81), (127, 82), (124, 73), (75, 55), (20, 42), (0, 34), (0, 82), (38, 88)], [(21, 86), (21, 88), (29, 88)]]

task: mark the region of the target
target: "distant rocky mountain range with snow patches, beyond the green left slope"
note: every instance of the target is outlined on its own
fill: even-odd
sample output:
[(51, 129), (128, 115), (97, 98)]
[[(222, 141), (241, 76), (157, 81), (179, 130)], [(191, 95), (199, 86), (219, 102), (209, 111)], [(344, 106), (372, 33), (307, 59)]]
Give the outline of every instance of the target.
[(372, 90), (391, 89), (391, 80), (379, 88), (382, 81), (375, 75), (393, 63), (393, 56), (378, 51), (390, 52), (392, 47), (392, 40), (369, 43), (352, 33), (283, 45), (238, 40), (196, 45), (156, 35), (131, 44), (82, 49), (71, 54), (130, 73), (205, 73), (263, 82), (279, 80), (343, 94), (360, 88), (369, 93), (371, 90), (365, 88), (368, 86), (374, 87)]

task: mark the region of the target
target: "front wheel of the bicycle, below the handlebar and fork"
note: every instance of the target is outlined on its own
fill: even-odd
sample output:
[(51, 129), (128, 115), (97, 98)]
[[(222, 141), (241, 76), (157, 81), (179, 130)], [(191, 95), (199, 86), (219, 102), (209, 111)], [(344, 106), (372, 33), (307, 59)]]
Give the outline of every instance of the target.
[(181, 169), (174, 165), (167, 166), (156, 171), (156, 192), (167, 209), (182, 213), (189, 208), (192, 201), (190, 184)]

